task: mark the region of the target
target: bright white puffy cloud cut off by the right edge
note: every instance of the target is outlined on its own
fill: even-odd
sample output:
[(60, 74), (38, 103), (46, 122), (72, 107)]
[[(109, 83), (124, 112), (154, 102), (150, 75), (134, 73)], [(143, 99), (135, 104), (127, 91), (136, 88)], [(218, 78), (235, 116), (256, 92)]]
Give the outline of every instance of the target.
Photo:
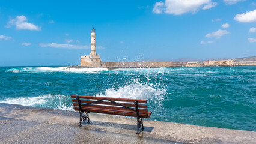
[(247, 11), (246, 13), (237, 14), (234, 20), (243, 23), (256, 22), (256, 10)]

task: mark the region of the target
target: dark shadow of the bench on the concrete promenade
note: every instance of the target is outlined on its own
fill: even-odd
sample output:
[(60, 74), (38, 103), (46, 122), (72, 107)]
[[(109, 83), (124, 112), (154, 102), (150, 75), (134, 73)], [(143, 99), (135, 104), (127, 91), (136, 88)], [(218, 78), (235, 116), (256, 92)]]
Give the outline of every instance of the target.
[[(87, 124), (88, 124), (87, 122), (82, 122), (82, 125), (87, 125)], [(99, 125), (99, 126), (112, 127), (112, 128), (122, 128), (122, 129), (126, 129), (126, 130), (137, 130), (137, 125), (118, 124), (118, 123), (114, 123), (114, 122), (91, 121), (90, 125)], [(151, 132), (153, 130), (154, 130), (154, 127), (144, 126), (143, 131)], [(142, 131), (141, 128), (139, 128), (139, 131)]]

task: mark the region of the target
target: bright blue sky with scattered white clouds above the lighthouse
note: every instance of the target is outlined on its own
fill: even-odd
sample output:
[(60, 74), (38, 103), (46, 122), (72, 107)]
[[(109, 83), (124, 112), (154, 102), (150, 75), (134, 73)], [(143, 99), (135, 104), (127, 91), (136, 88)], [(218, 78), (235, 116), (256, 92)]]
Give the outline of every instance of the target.
[(256, 1), (1, 1), (0, 66), (256, 55)]

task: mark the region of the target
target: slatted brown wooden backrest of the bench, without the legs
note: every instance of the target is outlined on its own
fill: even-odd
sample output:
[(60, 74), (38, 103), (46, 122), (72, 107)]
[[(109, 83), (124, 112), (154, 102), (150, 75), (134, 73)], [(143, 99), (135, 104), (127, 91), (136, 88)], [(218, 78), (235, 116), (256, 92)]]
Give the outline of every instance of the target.
[[(137, 116), (136, 104), (138, 102), (139, 116), (148, 117), (147, 100), (137, 100), (130, 98), (110, 98), (110, 97), (92, 97), (84, 95), (71, 95), (75, 110), (79, 111), (78, 101), (81, 108), (87, 112), (107, 113), (124, 116)], [(79, 100), (77, 99), (79, 97)], [(99, 101), (100, 100), (100, 101)], [(96, 102), (97, 101), (97, 102)]]

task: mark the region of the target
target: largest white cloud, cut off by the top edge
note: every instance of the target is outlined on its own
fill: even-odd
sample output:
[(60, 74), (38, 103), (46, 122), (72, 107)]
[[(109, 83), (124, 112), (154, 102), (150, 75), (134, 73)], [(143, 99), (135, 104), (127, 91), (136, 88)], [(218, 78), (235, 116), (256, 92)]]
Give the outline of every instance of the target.
[(181, 15), (184, 13), (197, 13), (201, 8), (203, 10), (210, 9), (217, 5), (212, 0), (165, 0), (165, 2), (156, 2), (154, 4), (153, 13)]

